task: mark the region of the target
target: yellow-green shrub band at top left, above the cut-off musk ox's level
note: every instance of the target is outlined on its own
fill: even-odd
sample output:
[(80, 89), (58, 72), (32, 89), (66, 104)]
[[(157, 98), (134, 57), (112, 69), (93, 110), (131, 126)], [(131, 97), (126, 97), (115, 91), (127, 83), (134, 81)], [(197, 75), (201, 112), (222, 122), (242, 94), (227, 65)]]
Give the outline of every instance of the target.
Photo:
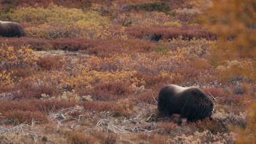
[(9, 17), (12, 21), (35, 24), (70, 25), (77, 21), (89, 21), (100, 26), (110, 25), (110, 21), (106, 17), (102, 17), (97, 11), (84, 12), (80, 9), (68, 9), (54, 3), (49, 4), (47, 8), (20, 7), (14, 13), (10, 13)]

